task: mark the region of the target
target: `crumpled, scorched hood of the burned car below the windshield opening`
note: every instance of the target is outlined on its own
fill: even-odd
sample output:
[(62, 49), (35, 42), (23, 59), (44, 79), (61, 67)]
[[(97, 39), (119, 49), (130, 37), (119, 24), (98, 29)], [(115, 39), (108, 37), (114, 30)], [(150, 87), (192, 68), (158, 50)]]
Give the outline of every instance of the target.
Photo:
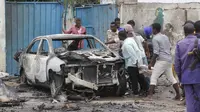
[[(66, 57), (67, 56), (67, 57)], [(67, 60), (77, 59), (81, 61), (95, 61), (95, 62), (110, 62), (120, 60), (121, 57), (114, 52), (109, 50), (77, 50), (77, 51), (67, 51), (61, 53), (60, 57), (65, 57)]]

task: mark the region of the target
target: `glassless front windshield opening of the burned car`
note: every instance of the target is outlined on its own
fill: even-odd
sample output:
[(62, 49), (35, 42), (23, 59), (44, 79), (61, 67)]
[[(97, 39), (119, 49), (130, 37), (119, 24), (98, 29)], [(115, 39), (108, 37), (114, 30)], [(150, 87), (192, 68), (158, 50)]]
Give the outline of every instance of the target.
[(66, 51), (106, 49), (99, 41), (95, 40), (92, 37), (74, 39), (53, 39), (52, 44), (56, 54)]

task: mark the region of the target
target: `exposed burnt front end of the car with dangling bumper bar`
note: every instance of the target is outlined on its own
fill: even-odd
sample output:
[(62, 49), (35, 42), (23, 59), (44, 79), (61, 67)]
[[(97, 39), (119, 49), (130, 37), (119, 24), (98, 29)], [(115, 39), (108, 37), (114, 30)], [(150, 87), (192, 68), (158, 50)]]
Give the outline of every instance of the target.
[(98, 87), (118, 85), (120, 63), (81, 64), (67, 67), (65, 83), (73, 87), (86, 87), (98, 90)]

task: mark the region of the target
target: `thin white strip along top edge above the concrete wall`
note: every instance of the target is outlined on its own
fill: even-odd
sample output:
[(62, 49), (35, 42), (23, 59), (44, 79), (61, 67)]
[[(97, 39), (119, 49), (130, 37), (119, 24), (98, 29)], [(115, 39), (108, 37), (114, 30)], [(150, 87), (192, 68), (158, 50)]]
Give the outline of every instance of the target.
[(138, 2), (146, 3), (190, 3), (190, 2), (200, 2), (199, 0), (138, 0)]

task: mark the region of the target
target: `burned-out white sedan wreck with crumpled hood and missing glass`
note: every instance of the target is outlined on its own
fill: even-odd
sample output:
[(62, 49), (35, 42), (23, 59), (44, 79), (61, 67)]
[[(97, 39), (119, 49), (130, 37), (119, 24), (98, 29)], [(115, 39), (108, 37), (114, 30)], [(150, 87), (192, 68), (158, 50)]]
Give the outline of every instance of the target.
[(90, 35), (37, 37), (20, 54), (19, 63), (22, 81), (49, 87), (52, 97), (62, 88), (101, 93), (108, 87), (117, 96), (126, 92), (124, 61)]

